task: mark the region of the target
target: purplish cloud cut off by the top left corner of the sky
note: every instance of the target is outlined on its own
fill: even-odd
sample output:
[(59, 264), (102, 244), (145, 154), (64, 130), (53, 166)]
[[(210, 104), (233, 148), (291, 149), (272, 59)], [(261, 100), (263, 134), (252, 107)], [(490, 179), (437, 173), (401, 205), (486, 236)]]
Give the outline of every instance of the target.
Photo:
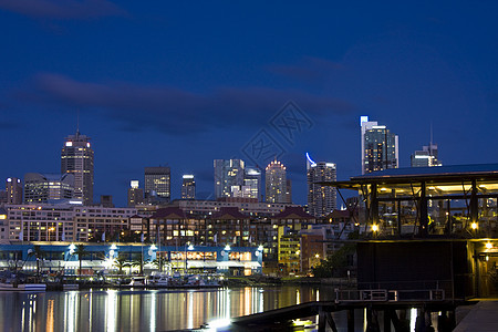
[(89, 19), (125, 14), (123, 9), (106, 0), (0, 0), (0, 9), (50, 19)]

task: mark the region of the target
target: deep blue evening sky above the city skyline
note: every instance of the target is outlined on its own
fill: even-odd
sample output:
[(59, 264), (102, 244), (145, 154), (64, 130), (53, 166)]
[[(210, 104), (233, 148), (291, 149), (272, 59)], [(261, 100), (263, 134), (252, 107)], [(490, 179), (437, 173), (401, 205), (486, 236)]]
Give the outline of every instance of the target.
[(360, 115), (400, 135), (401, 166), (430, 123), (444, 165), (498, 162), (497, 1), (147, 4), (0, 0), (0, 177), (60, 172), (77, 110), (117, 205), (145, 166), (206, 197), (212, 159), (271, 154), (304, 204), (305, 152), (361, 173)]

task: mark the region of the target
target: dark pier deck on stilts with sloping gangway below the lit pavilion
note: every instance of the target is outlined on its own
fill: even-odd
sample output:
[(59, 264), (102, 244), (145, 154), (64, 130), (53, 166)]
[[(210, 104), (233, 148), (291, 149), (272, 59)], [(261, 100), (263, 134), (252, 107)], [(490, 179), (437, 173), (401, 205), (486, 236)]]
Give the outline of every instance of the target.
[[(430, 331), (426, 328), (430, 326), (430, 322), (426, 321), (426, 314), (430, 312), (440, 312), (438, 318), (438, 331), (453, 331), (456, 326), (455, 309), (457, 305), (469, 304), (468, 301), (445, 300), (440, 290), (409, 290), (402, 291), (405, 293), (418, 294), (423, 300), (406, 299), (401, 300), (398, 291), (388, 290), (360, 290), (360, 291), (341, 291), (336, 290), (335, 301), (313, 301), (295, 304), (287, 308), (270, 310), (261, 313), (239, 317), (231, 320), (234, 331), (266, 331), (268, 326), (289, 326), (289, 322), (297, 319), (310, 317), (319, 317), (318, 331), (324, 332), (326, 328), (336, 332), (338, 326), (332, 317), (332, 312), (347, 312), (347, 331), (354, 332), (354, 310), (366, 310), (367, 331), (384, 332), (407, 332), (409, 331), (409, 321), (407, 312), (416, 308), (417, 328), (415, 331)], [(340, 300), (342, 295), (351, 295), (355, 292), (356, 299)], [(437, 295), (435, 295), (437, 294)], [(427, 297), (428, 295), (428, 297)], [(434, 295), (434, 297), (433, 297)], [(498, 304), (497, 304), (498, 305)], [(382, 322), (382, 324), (381, 324)], [(434, 331), (434, 330), (432, 330)], [(465, 330), (461, 330), (465, 331)]]

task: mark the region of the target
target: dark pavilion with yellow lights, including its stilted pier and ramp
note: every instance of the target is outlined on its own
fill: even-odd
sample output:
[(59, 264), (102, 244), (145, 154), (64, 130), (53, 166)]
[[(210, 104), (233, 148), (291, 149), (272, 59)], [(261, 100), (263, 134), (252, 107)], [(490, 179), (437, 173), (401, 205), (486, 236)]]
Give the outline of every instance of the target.
[[(366, 309), (367, 331), (434, 331), (427, 313), (439, 312), (438, 331), (455, 328), (455, 309), (498, 295), (498, 164), (396, 168), (324, 183), (359, 191), (361, 239), (357, 289), (336, 290), (335, 302), (310, 302), (236, 319), (261, 325), (319, 314), (319, 331), (336, 331), (331, 312)], [(344, 201), (345, 204), (345, 201)], [(351, 214), (354, 216), (354, 214)], [(257, 329), (256, 329), (257, 330)], [(255, 330), (255, 331), (256, 331)]]

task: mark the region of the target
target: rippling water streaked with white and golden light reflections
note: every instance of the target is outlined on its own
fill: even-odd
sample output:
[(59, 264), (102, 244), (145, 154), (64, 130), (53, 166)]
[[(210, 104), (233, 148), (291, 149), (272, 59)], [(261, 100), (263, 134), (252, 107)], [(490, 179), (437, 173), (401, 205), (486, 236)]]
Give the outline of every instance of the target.
[[(332, 288), (94, 290), (0, 293), (2, 331), (166, 331), (212, 326), (229, 318), (308, 301), (332, 300)], [(340, 331), (346, 315), (334, 313)], [(363, 314), (355, 314), (362, 326)], [(361, 328), (360, 328), (361, 329)]]

